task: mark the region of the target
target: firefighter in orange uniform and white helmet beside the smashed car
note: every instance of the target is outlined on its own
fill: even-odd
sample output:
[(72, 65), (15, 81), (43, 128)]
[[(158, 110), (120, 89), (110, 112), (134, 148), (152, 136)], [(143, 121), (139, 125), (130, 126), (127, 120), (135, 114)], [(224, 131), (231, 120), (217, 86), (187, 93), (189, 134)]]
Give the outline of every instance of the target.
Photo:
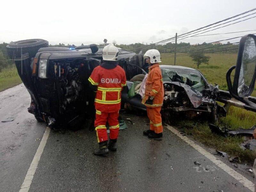
[(144, 54), (144, 58), (149, 59), (150, 67), (148, 68), (149, 73), (142, 104), (147, 106), (150, 129), (143, 131), (143, 134), (155, 140), (162, 140), (163, 126), (160, 111), (164, 101), (164, 85), (159, 68), (160, 52), (156, 49), (150, 49)]

